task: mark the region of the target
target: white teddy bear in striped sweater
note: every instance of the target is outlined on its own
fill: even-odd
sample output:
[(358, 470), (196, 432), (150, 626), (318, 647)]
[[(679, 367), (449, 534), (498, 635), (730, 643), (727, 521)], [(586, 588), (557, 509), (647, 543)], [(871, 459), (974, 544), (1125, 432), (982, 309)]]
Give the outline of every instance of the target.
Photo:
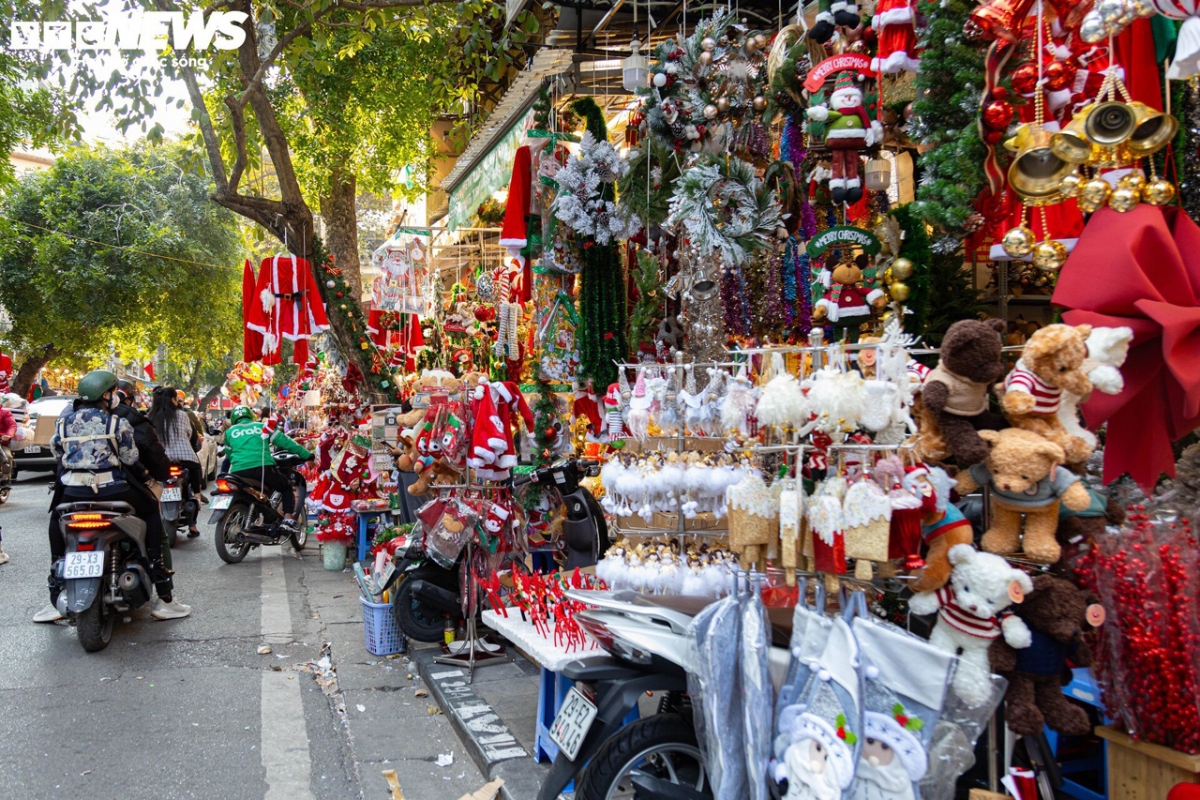
[[(1010, 646), (1030, 646), (1032, 636), (1021, 618), (1003, 613), (1019, 591), (1030, 593), (1030, 576), (991, 553), (970, 545), (955, 545), (949, 552), (950, 582), (937, 591), (912, 596), (914, 614), (937, 612), (930, 644), (958, 654), (962, 663), (954, 670), (953, 686), (962, 700), (978, 708), (991, 694), (988, 648), (1003, 637)], [(1015, 589), (1014, 589), (1015, 587)]]

